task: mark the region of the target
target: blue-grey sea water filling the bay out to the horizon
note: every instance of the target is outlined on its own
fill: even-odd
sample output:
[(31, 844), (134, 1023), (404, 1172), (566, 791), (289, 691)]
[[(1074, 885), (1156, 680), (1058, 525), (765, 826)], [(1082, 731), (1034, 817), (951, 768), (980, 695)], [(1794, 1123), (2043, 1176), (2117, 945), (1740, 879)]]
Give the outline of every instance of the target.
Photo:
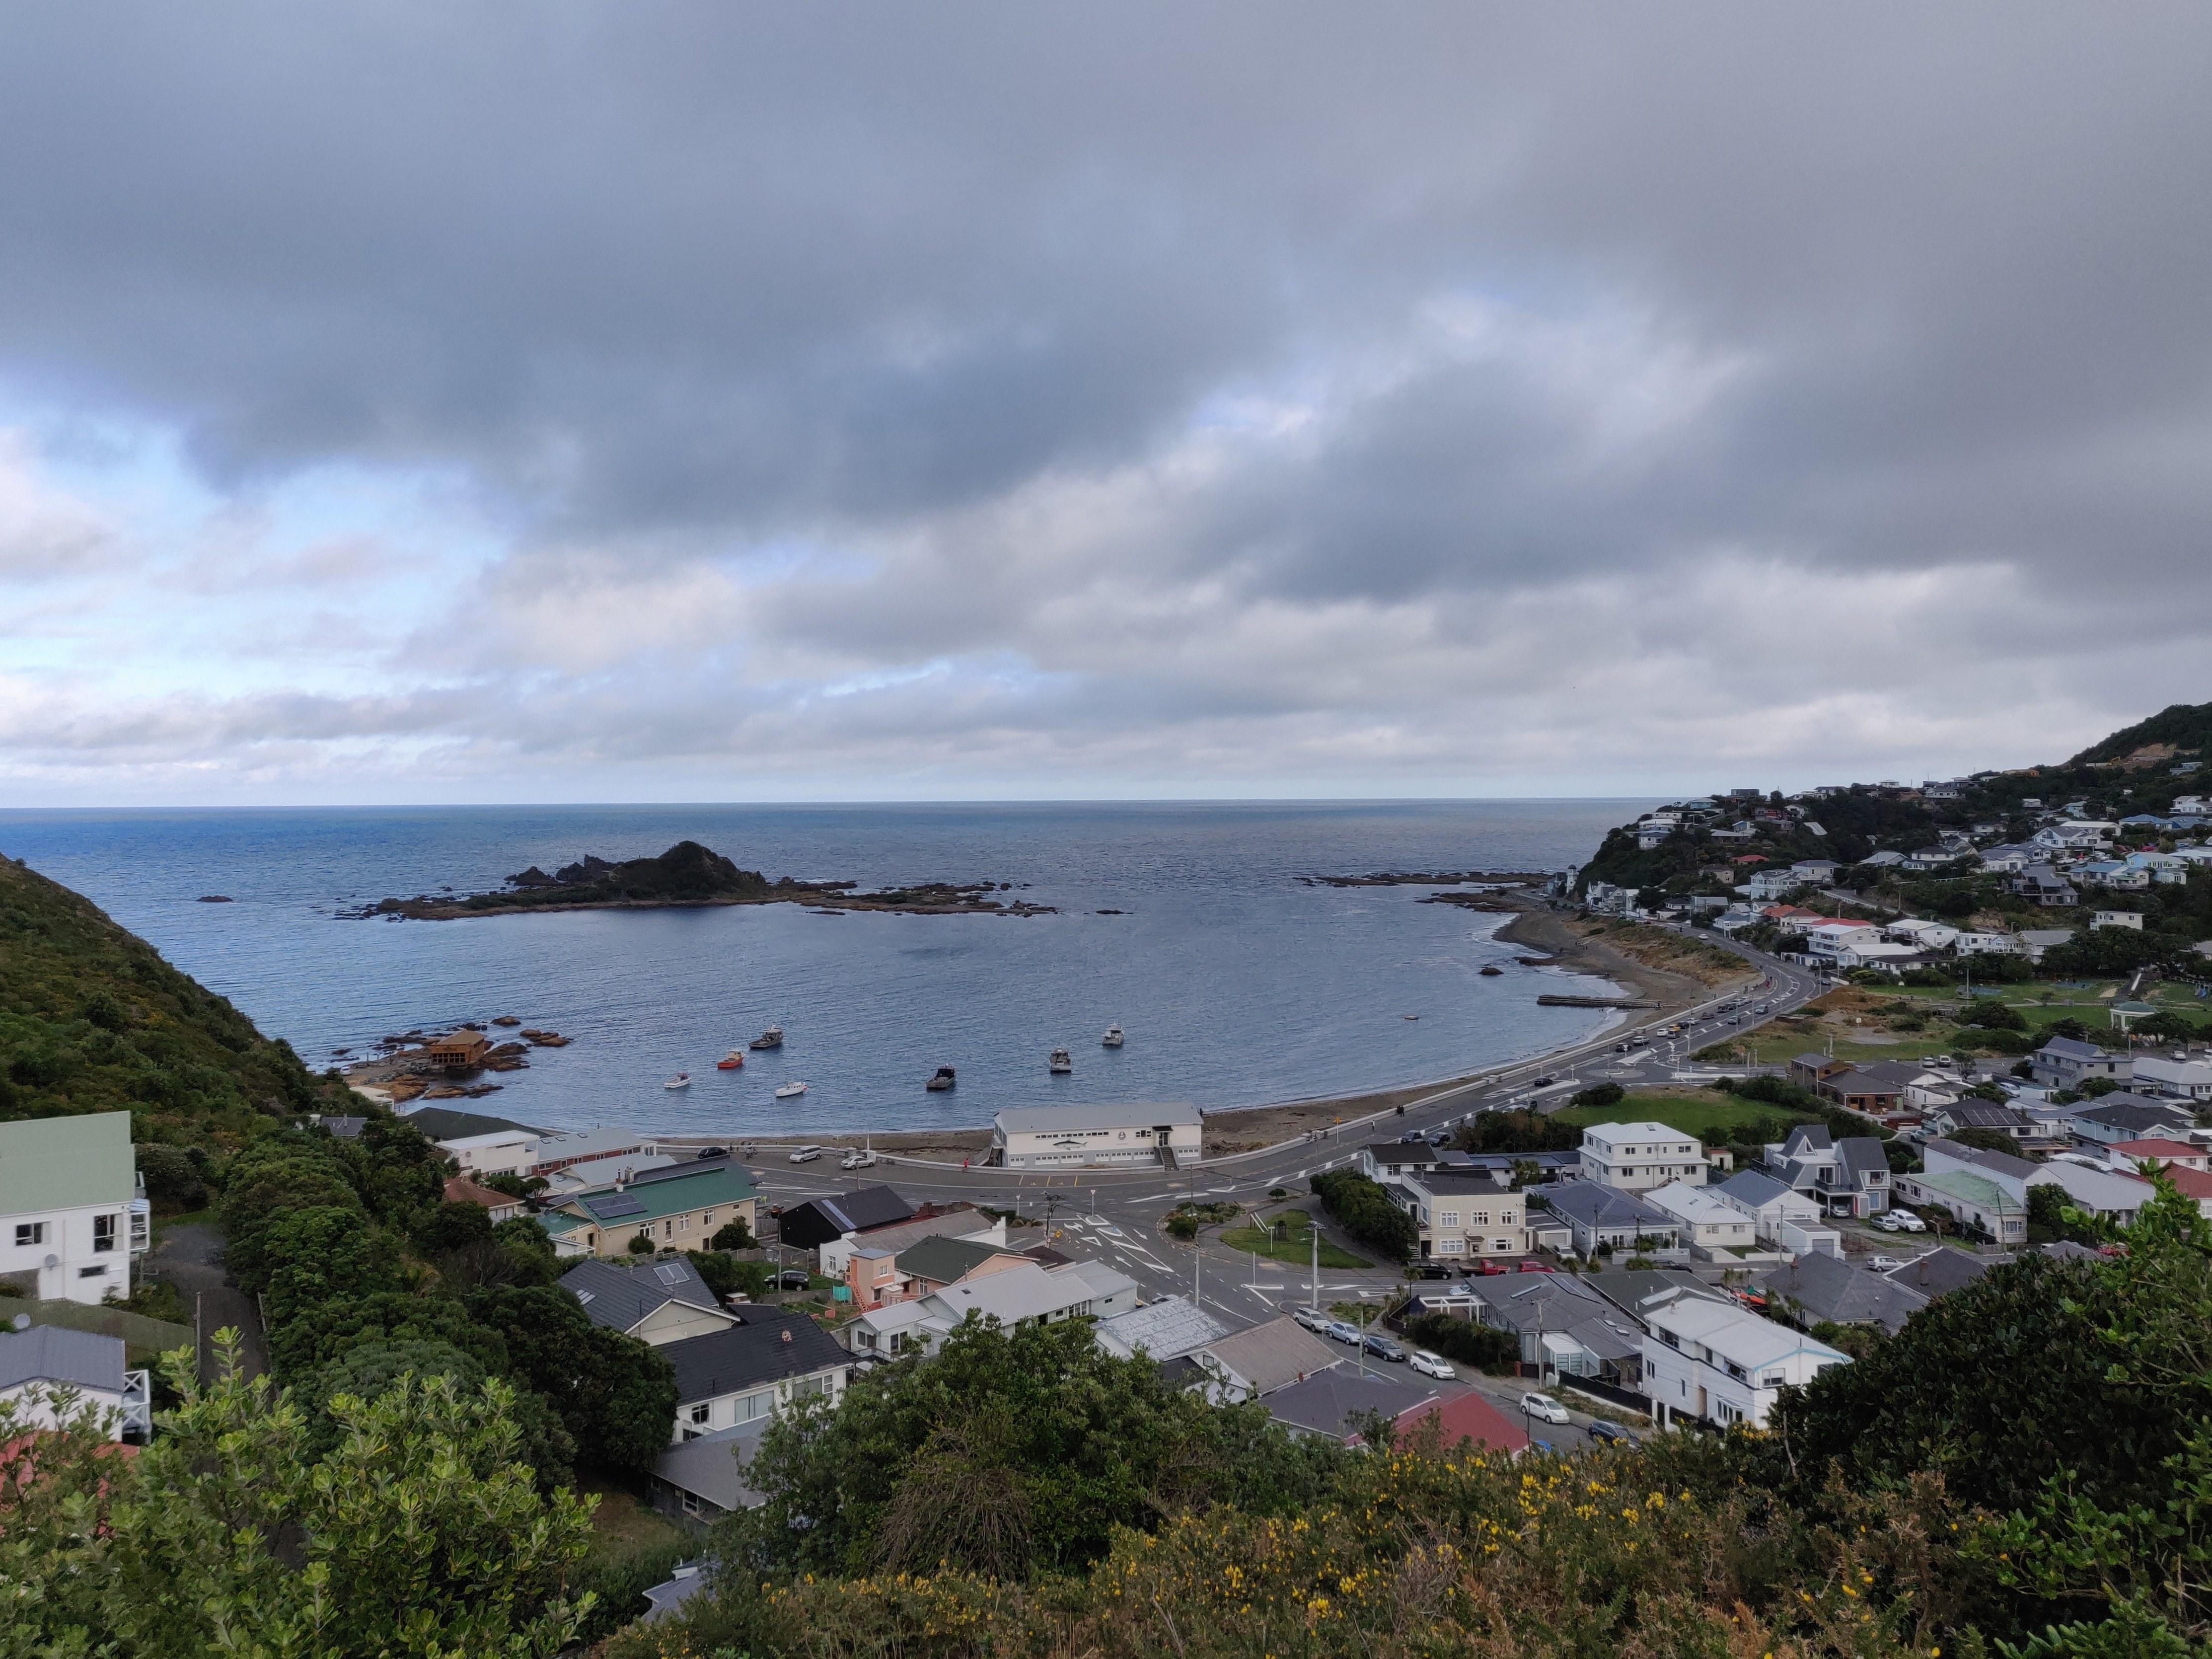
[[(476, 1108), (529, 1124), (770, 1135), (989, 1124), (1006, 1106), (1206, 1108), (1451, 1077), (1604, 1029), (1601, 991), (1513, 962), (1502, 918), (1301, 876), (1555, 869), (1637, 801), (0, 812), (75, 887), (310, 1066), (513, 1013), (575, 1037)], [(768, 876), (1018, 883), (1060, 914), (799, 905), (341, 920), (586, 852), (695, 838)], [(228, 894), (230, 905), (195, 902)], [(1102, 916), (1119, 909), (1121, 916)], [(1500, 978), (1482, 978), (1495, 962)], [(1407, 1018), (1418, 1015), (1418, 1018)], [(781, 1053), (714, 1060), (776, 1022)], [(1119, 1051), (1099, 1035), (1128, 1031)], [(1066, 1046), (1073, 1077), (1046, 1075)], [(958, 1088), (922, 1091), (940, 1064)], [(661, 1084), (677, 1071), (692, 1086)], [(801, 1099), (772, 1091), (805, 1079)]]

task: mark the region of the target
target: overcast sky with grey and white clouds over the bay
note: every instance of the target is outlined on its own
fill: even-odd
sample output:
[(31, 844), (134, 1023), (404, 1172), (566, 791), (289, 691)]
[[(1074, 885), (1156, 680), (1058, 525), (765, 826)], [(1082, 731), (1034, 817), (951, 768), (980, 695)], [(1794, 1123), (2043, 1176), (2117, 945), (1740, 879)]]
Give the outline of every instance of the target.
[(0, 801), (1641, 794), (2212, 699), (2212, 9), (18, 4)]

